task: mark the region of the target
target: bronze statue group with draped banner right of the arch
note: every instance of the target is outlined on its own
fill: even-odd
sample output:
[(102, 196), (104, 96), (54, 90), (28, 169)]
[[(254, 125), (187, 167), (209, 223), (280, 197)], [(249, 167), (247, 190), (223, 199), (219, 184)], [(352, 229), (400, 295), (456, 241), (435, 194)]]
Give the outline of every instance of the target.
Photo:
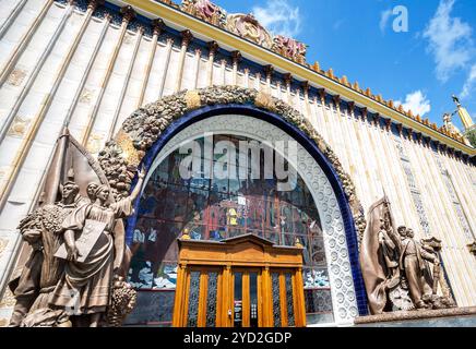
[(454, 306), (441, 270), (441, 241), (417, 241), (413, 229), (395, 229), (386, 197), (372, 205), (368, 220), (360, 265), (371, 314)]

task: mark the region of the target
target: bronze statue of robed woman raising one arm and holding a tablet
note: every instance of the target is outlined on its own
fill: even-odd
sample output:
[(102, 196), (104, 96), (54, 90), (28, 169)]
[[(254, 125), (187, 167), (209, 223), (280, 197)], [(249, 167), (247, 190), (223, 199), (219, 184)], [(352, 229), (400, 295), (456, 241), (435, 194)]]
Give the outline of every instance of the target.
[[(97, 327), (100, 315), (106, 313), (114, 272), (117, 272), (114, 270), (115, 255), (123, 252), (115, 251), (116, 221), (132, 214), (132, 203), (141, 192), (144, 177), (142, 170), (132, 194), (111, 204), (108, 204), (108, 185), (98, 185), (95, 202), (78, 207), (62, 224), (68, 264), (50, 304), (70, 306), (71, 294), (78, 294), (80, 313), (91, 315), (92, 327)], [(79, 241), (90, 248), (87, 255), (81, 255)]]

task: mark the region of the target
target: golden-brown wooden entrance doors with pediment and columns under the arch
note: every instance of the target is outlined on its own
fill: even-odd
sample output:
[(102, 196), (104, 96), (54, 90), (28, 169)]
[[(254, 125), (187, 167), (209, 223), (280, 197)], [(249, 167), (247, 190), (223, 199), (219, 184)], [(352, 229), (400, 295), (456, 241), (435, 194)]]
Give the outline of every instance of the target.
[(255, 236), (179, 248), (174, 326), (306, 326), (302, 249)]

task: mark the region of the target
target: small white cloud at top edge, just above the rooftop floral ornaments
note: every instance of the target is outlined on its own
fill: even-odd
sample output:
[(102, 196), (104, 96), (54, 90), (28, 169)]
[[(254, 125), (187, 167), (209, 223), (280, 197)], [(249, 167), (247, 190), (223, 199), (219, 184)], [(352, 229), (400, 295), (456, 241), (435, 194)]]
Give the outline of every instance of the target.
[(257, 20), (270, 32), (295, 37), (301, 32), (301, 16), (298, 7), (287, 0), (267, 0), (264, 8), (254, 7)]

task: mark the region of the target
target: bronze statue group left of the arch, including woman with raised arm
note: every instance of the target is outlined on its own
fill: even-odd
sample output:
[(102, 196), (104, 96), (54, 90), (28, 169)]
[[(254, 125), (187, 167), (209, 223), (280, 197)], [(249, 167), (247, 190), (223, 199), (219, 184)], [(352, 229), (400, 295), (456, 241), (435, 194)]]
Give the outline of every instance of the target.
[(116, 201), (109, 186), (97, 182), (82, 196), (70, 171), (61, 200), (39, 205), (21, 221), (32, 252), (10, 284), (16, 298), (10, 326), (120, 325), (118, 312), (131, 311), (135, 291), (119, 276), (124, 244), (117, 226), (132, 214), (144, 174), (129, 197)]

